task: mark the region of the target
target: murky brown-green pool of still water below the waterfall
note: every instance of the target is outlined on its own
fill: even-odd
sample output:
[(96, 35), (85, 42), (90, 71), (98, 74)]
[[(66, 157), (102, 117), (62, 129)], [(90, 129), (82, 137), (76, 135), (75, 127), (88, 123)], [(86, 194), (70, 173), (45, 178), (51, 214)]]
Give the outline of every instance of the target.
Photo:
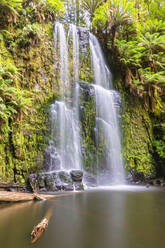
[[(111, 187), (9, 205), (0, 209), (0, 244), (4, 248), (162, 248), (164, 194), (142, 187)], [(31, 245), (34, 225), (52, 206), (47, 231)]]

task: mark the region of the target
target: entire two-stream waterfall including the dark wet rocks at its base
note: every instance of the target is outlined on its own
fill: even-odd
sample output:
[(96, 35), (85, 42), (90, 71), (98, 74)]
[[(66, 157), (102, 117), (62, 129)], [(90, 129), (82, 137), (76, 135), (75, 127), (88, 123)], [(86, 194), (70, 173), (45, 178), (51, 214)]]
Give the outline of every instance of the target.
[[(87, 29), (74, 24), (65, 28), (59, 22), (54, 25), (54, 42), (55, 73), (61, 95), (50, 108), (51, 138), (44, 156), (45, 172), (30, 175), (30, 183), (35, 185), (37, 181), (41, 191), (124, 184), (119, 128), (121, 99), (112, 89), (111, 72), (99, 42)], [(90, 61), (90, 83), (82, 81), (82, 58)], [(87, 151), (86, 129), (90, 127), (85, 116), (91, 102), (92, 152)], [(91, 161), (90, 166), (84, 160), (88, 164)]]

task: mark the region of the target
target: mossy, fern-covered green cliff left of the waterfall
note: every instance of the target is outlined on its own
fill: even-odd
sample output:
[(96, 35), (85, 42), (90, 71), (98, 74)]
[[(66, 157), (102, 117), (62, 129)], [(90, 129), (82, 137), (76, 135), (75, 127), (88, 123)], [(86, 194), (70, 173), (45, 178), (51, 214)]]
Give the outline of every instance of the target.
[(0, 0), (0, 180), (41, 168), (54, 87), (52, 22), (62, 1)]

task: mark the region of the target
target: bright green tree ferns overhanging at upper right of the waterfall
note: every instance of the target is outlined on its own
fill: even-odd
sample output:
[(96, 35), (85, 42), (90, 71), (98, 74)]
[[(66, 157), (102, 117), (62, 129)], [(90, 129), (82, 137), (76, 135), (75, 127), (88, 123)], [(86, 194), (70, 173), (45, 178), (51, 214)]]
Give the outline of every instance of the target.
[(165, 21), (162, 1), (108, 0), (95, 10), (93, 27), (104, 32), (125, 86), (158, 114), (165, 86)]

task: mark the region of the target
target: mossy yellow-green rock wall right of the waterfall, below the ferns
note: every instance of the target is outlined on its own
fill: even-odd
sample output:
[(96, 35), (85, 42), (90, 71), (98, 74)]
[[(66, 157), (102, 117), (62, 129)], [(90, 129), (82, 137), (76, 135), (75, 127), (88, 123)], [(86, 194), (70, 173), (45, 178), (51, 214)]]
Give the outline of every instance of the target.
[(135, 97), (123, 96), (122, 131), (123, 158), (127, 170), (135, 169), (146, 176), (154, 174), (152, 157), (153, 133), (149, 113)]

